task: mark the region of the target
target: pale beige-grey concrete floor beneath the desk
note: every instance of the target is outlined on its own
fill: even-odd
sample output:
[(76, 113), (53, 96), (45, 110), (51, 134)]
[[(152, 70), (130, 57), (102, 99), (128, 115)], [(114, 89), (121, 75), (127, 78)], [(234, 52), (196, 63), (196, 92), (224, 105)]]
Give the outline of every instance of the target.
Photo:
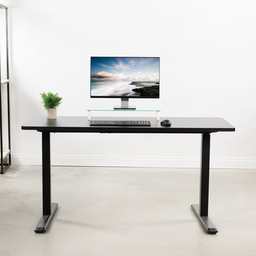
[(206, 234), (190, 204), (199, 170), (52, 167), (47, 233), (41, 217), (41, 167), (12, 166), (0, 176), (0, 255), (256, 255), (256, 170), (211, 170)]

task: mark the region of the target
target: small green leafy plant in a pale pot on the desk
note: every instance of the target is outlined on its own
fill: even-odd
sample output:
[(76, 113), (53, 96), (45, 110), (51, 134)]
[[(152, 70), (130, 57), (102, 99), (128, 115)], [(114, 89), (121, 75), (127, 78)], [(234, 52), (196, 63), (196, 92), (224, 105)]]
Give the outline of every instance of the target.
[(62, 97), (59, 97), (58, 94), (52, 94), (52, 92), (42, 92), (40, 94), (42, 97), (42, 103), (44, 104), (44, 108), (47, 110), (47, 118), (48, 119), (56, 119), (57, 118), (57, 106), (60, 105)]

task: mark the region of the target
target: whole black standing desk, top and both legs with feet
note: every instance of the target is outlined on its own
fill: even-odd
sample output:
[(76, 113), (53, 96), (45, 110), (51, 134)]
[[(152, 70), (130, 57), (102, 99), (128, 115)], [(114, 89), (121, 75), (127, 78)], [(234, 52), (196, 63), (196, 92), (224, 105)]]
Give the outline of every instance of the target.
[[(201, 221), (207, 233), (215, 234), (217, 228), (208, 217), (209, 199), (209, 163), (210, 163), (210, 133), (233, 132), (234, 127), (223, 118), (99, 118), (94, 119), (126, 119), (149, 120), (150, 127), (117, 127), (90, 126), (86, 117), (58, 116), (57, 119), (46, 119), (45, 116), (31, 118), (23, 126), (23, 130), (42, 132), (42, 217), (35, 228), (36, 233), (44, 233), (52, 220), (58, 204), (50, 199), (50, 132), (100, 132), (118, 134), (202, 134), (201, 141), (201, 177), (199, 204), (191, 207)], [(162, 127), (160, 122), (169, 119), (171, 127)]]

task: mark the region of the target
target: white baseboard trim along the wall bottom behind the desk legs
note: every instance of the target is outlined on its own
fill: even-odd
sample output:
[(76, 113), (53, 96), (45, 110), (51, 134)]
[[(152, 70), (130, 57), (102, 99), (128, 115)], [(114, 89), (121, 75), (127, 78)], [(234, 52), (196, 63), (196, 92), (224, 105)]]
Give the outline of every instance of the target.
[[(199, 168), (199, 158), (122, 158), (105, 156), (52, 156), (52, 166), (115, 166)], [(12, 155), (12, 164), (41, 165), (41, 156)], [(210, 159), (211, 168), (256, 169), (256, 159)]]

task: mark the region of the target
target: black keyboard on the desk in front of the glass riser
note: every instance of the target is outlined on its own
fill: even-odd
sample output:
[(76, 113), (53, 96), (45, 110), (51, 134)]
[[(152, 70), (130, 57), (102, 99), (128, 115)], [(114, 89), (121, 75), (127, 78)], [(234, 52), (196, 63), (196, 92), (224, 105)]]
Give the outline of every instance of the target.
[(151, 124), (150, 121), (95, 120), (90, 121), (90, 126), (151, 126)]

